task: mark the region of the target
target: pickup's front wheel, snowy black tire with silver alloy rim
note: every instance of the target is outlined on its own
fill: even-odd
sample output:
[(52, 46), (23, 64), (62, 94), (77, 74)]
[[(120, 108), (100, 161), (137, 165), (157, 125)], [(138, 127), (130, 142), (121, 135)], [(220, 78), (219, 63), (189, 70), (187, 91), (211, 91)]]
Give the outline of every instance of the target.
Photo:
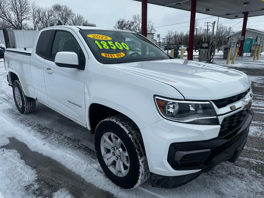
[(150, 176), (140, 131), (126, 116), (112, 116), (97, 125), (95, 150), (106, 176), (121, 188), (135, 188)]

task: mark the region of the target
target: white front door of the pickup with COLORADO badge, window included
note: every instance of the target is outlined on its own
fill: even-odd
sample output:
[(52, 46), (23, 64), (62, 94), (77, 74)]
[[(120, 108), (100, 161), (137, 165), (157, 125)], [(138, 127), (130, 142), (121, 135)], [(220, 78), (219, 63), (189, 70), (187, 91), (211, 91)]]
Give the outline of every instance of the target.
[[(50, 52), (44, 61), (44, 78), (49, 105), (54, 109), (86, 124), (84, 79), (85, 69), (58, 67), (56, 53), (72, 51), (78, 55), (80, 65), (88, 62), (88, 54), (76, 33), (68, 28), (54, 30)], [(85, 57), (86, 56), (86, 57)]]

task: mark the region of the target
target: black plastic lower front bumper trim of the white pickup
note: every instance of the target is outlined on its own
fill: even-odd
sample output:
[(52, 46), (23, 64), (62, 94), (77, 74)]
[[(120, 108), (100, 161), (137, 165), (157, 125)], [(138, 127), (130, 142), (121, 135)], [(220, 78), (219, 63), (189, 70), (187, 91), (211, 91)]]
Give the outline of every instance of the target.
[[(199, 142), (186, 142), (186, 143), (175, 143), (177, 147), (181, 149), (188, 148), (189, 150), (195, 149), (211, 149), (211, 154), (204, 163), (204, 166), (200, 167), (186, 167), (177, 170), (197, 170), (201, 171), (181, 176), (162, 176), (151, 173), (153, 187), (159, 188), (175, 188), (182, 186), (196, 177), (201, 173), (208, 172), (213, 169), (216, 165), (224, 161), (234, 163), (239, 155), (241, 154), (244, 145), (247, 141), (249, 132), (249, 125), (253, 119), (253, 111), (249, 110), (249, 116), (245, 121), (244, 125), (239, 129), (238, 133), (230, 138), (229, 140), (214, 138), (211, 140), (199, 141)], [(176, 147), (176, 148), (177, 148)]]

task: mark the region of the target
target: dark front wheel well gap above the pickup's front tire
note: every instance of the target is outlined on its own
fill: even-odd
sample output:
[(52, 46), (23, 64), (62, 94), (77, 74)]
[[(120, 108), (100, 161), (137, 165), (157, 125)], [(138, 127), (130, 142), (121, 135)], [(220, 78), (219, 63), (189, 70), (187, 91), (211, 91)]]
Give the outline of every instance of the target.
[(89, 123), (91, 127), (91, 134), (95, 133), (96, 126), (103, 119), (114, 115), (124, 115), (119, 111), (116, 111), (110, 107), (105, 105), (101, 105), (98, 103), (92, 103), (89, 107)]

